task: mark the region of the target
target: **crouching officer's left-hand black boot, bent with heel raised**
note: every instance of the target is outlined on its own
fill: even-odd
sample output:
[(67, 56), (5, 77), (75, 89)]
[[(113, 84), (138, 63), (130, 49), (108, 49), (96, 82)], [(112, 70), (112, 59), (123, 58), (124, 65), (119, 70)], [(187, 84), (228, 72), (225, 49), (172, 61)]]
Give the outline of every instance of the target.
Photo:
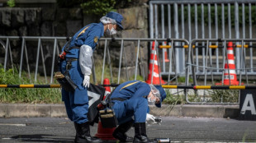
[(126, 132), (130, 130), (130, 127), (133, 125), (133, 120), (130, 122), (123, 123), (116, 127), (116, 130), (113, 132), (113, 136), (121, 142), (131, 142), (133, 137), (127, 136)]

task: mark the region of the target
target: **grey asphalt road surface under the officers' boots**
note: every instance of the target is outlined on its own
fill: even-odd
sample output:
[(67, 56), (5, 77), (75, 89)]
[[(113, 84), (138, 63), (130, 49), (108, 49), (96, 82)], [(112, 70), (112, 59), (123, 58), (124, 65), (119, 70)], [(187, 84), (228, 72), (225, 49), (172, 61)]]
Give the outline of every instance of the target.
[[(226, 118), (164, 117), (161, 125), (147, 127), (149, 138), (172, 142), (256, 142), (256, 122)], [(97, 133), (97, 124), (91, 135)], [(73, 122), (67, 118), (0, 118), (0, 142), (73, 142)], [(134, 128), (128, 132), (134, 136)]]

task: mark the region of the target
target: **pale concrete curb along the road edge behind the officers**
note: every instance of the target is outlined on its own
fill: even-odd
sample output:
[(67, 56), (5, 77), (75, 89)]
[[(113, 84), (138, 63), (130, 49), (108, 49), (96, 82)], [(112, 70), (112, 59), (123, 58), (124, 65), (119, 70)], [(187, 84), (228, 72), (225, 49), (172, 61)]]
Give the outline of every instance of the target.
[[(168, 105), (150, 106), (155, 116), (238, 118), (239, 105)], [(64, 104), (0, 104), (0, 118), (67, 117)]]

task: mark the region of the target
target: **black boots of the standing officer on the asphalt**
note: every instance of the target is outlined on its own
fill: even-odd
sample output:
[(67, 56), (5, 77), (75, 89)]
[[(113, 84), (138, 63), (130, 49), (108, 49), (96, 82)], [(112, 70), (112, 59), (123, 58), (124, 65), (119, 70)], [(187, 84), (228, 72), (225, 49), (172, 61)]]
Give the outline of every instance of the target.
[(74, 122), (74, 127), (76, 129), (76, 136), (75, 136), (75, 139), (74, 139), (75, 143), (102, 142), (100, 139), (93, 138), (90, 135), (89, 122), (84, 122), (82, 124), (78, 124), (78, 123)]

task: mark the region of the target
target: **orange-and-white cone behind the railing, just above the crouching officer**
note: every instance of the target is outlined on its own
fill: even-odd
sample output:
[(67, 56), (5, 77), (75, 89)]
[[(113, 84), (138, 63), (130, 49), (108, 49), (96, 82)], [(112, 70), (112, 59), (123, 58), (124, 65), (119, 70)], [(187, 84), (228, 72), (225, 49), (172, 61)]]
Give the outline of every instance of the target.
[[(153, 70), (154, 67), (154, 71)], [(162, 78), (160, 79), (159, 76), (160, 70), (159, 70), (159, 65), (158, 65), (158, 59), (156, 56), (156, 51), (154, 49), (154, 42), (152, 43), (152, 50), (150, 53), (150, 62), (149, 62), (149, 76), (148, 76), (148, 81), (146, 81), (146, 83), (148, 84), (153, 84), (153, 85), (160, 85), (161, 84), (165, 84), (165, 82), (162, 80)], [(153, 74), (153, 80), (151, 83), (151, 74)]]

